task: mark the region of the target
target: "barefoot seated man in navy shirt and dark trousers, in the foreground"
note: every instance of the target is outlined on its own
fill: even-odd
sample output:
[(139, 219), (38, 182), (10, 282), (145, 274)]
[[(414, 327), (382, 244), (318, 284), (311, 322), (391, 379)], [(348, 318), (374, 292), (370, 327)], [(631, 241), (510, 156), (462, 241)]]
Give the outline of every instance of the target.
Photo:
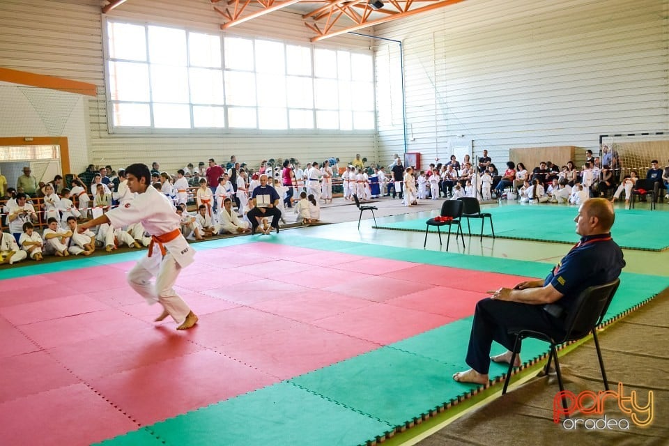
[[(625, 266), (622, 249), (610, 234), (614, 219), (613, 205), (608, 200), (585, 201), (574, 219), (580, 242), (546, 279), (521, 282), (513, 289), (500, 288), (490, 298), (479, 300), (466, 357), (472, 368), (459, 371), (453, 379), (460, 383), (488, 383), (490, 361), (508, 364), (511, 360), (516, 337), (509, 334), (510, 328), (563, 336), (564, 317), (580, 292), (589, 286), (613, 281)], [(507, 352), (490, 357), (493, 341), (505, 346)], [(520, 346), (516, 353), (519, 352)], [(516, 355), (514, 366), (520, 364), (520, 357)]]

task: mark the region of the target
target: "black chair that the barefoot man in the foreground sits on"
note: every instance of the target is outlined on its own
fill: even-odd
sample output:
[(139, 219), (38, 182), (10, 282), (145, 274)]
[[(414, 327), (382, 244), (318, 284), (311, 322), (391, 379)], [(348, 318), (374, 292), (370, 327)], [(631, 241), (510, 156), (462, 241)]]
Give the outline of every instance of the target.
[[(544, 332), (537, 332), (534, 330), (520, 330), (510, 331), (516, 334), (516, 342), (514, 345), (514, 353), (509, 361), (509, 370), (504, 381), (504, 389), (502, 394), (507, 392), (509, 381), (511, 380), (511, 373), (514, 369), (513, 365), (516, 360), (516, 350), (518, 343), (525, 338), (532, 337), (540, 341), (546, 341), (551, 344), (551, 352), (548, 353), (548, 362), (544, 369), (544, 374), (548, 374), (548, 369), (551, 367), (551, 361), (555, 359), (555, 374), (557, 374), (557, 384), (560, 386), (560, 391), (564, 391), (562, 384), (562, 374), (560, 373), (560, 362), (557, 360), (556, 346), (564, 344), (564, 342), (577, 341), (586, 337), (588, 333), (592, 332), (592, 339), (594, 339), (594, 346), (597, 349), (597, 357), (599, 358), (599, 369), (601, 369), (601, 379), (604, 383), (604, 388), (608, 390), (608, 380), (606, 379), (606, 371), (604, 370), (604, 362), (601, 358), (601, 350), (599, 349), (599, 339), (597, 339), (597, 326), (603, 321), (606, 310), (613, 300), (613, 295), (620, 285), (620, 279), (615, 279), (608, 284), (589, 286), (583, 290), (576, 302), (574, 302), (574, 309), (564, 315), (564, 330), (565, 334), (559, 339), (555, 339)], [(567, 412), (567, 401), (562, 399), (562, 406), (564, 412)]]

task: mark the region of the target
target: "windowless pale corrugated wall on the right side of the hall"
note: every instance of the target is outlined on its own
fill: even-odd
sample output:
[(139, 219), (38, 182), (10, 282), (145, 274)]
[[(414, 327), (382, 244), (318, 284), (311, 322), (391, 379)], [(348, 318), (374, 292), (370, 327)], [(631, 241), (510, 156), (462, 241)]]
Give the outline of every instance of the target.
[[(403, 42), (408, 151), (429, 162), (464, 134), (503, 162), (512, 147), (668, 130), (668, 15), (666, 0), (466, 0), (378, 26)], [(380, 157), (402, 148), (395, 127), (380, 114)]]

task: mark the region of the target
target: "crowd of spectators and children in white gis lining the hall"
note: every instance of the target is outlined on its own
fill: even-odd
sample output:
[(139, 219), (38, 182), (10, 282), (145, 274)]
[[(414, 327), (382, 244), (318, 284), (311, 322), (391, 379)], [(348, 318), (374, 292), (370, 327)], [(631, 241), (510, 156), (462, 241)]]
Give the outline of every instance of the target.
[[(405, 206), (442, 197), (580, 204), (591, 197), (615, 201), (624, 193), (629, 201), (639, 178), (638, 172), (621, 169), (617, 155), (606, 146), (601, 161), (587, 151), (581, 169), (571, 160), (561, 167), (542, 161), (531, 171), (522, 162), (508, 161), (500, 172), (485, 150), (475, 162), (469, 155), (462, 160), (452, 155), (445, 163), (438, 161), (420, 170), (405, 167), (395, 155), (385, 167), (366, 165), (367, 159), (358, 154), (341, 168), (336, 157), (309, 162), (305, 169), (294, 159), (262, 160), (253, 168), (233, 155), (225, 164), (210, 158), (197, 167), (188, 163), (174, 173), (162, 171), (160, 164), (153, 162), (151, 174), (153, 187), (174, 203), (175, 212), (181, 215), (182, 231), (190, 240), (222, 233), (270, 233), (278, 230), (279, 222), (291, 218), (291, 208), (295, 222), (318, 222), (321, 203), (332, 202), (335, 178), (344, 200), (385, 196), (399, 198)], [(656, 197), (661, 197), (669, 188), (669, 166), (662, 169), (653, 160), (645, 179), (647, 187), (653, 187)], [(26, 258), (41, 260), (43, 254), (86, 256), (96, 247), (111, 252), (121, 245), (139, 248), (150, 243), (141, 225), (101, 225), (93, 232), (77, 233), (77, 222), (133, 199), (123, 169), (90, 164), (67, 180), (56, 175), (48, 183), (40, 183), (30, 167), (25, 167), (16, 188), (7, 187), (0, 175), (0, 192), (4, 200), (1, 223), (8, 230), (0, 240), (0, 264)], [(669, 195), (665, 197), (669, 199)]]

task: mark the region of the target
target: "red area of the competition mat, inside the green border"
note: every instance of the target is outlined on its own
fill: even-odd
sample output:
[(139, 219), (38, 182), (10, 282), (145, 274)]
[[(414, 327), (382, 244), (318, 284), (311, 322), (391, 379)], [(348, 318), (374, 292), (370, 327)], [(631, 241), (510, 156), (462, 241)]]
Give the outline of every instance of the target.
[(490, 286), (524, 279), (272, 243), (208, 249), (175, 287), (199, 324), (177, 332), (130, 289), (132, 266), (1, 281), (0, 443), (94, 443), (470, 316)]

